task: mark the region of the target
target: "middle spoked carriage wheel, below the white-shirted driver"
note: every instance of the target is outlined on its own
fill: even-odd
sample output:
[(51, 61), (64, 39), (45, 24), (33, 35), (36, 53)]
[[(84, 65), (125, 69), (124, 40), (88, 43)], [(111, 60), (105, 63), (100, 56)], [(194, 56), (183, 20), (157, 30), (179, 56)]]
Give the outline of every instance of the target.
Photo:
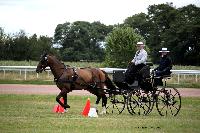
[(151, 98), (143, 90), (131, 91), (127, 99), (127, 109), (130, 114), (146, 115), (151, 106)]

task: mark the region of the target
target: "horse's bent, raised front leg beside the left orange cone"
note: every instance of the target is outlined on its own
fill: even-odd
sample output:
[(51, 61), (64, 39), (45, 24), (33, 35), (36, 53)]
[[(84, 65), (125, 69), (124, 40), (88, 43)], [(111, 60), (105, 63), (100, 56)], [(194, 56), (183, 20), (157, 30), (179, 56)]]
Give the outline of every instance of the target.
[[(63, 97), (64, 99), (64, 103), (62, 103), (60, 101), (60, 98)], [(58, 94), (58, 96), (56, 97), (56, 101), (64, 108), (70, 108), (70, 106), (67, 104), (67, 91), (66, 89), (62, 89), (61, 92)]]

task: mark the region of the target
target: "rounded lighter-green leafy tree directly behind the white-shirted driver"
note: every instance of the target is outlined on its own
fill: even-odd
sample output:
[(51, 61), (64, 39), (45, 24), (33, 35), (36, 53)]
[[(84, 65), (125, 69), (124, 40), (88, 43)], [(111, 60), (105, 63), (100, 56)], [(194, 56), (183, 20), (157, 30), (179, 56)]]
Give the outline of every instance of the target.
[(136, 52), (135, 44), (144, 38), (130, 27), (116, 27), (106, 37), (105, 63), (110, 67), (127, 67)]

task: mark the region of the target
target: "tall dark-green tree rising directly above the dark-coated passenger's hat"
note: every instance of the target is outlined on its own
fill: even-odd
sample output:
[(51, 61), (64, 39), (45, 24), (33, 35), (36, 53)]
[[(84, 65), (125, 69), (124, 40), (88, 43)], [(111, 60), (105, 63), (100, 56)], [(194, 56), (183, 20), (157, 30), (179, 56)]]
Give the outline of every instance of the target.
[[(176, 9), (173, 3), (150, 5), (148, 7), (148, 22), (151, 25), (148, 31), (147, 44), (151, 49), (152, 61), (159, 60), (158, 52), (161, 47), (168, 47), (165, 33), (171, 28), (176, 19)], [(168, 47), (169, 48), (169, 47)]]

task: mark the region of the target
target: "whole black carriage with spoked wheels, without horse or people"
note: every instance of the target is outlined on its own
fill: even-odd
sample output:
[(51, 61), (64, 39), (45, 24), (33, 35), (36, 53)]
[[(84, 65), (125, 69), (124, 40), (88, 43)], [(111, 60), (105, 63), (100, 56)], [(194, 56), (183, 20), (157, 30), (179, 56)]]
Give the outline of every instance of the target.
[[(115, 90), (107, 90), (109, 103), (107, 105), (108, 113), (120, 114), (127, 107), (132, 115), (148, 115), (154, 105), (161, 116), (176, 116), (181, 108), (181, 95), (179, 91), (167, 85), (167, 80), (171, 75), (155, 77), (152, 70), (150, 73), (149, 63), (146, 70), (150, 76), (143, 77), (142, 81), (137, 80), (129, 85), (125, 82), (125, 70), (113, 71), (113, 83)], [(158, 78), (162, 78), (164, 85), (159, 86), (155, 83)]]

